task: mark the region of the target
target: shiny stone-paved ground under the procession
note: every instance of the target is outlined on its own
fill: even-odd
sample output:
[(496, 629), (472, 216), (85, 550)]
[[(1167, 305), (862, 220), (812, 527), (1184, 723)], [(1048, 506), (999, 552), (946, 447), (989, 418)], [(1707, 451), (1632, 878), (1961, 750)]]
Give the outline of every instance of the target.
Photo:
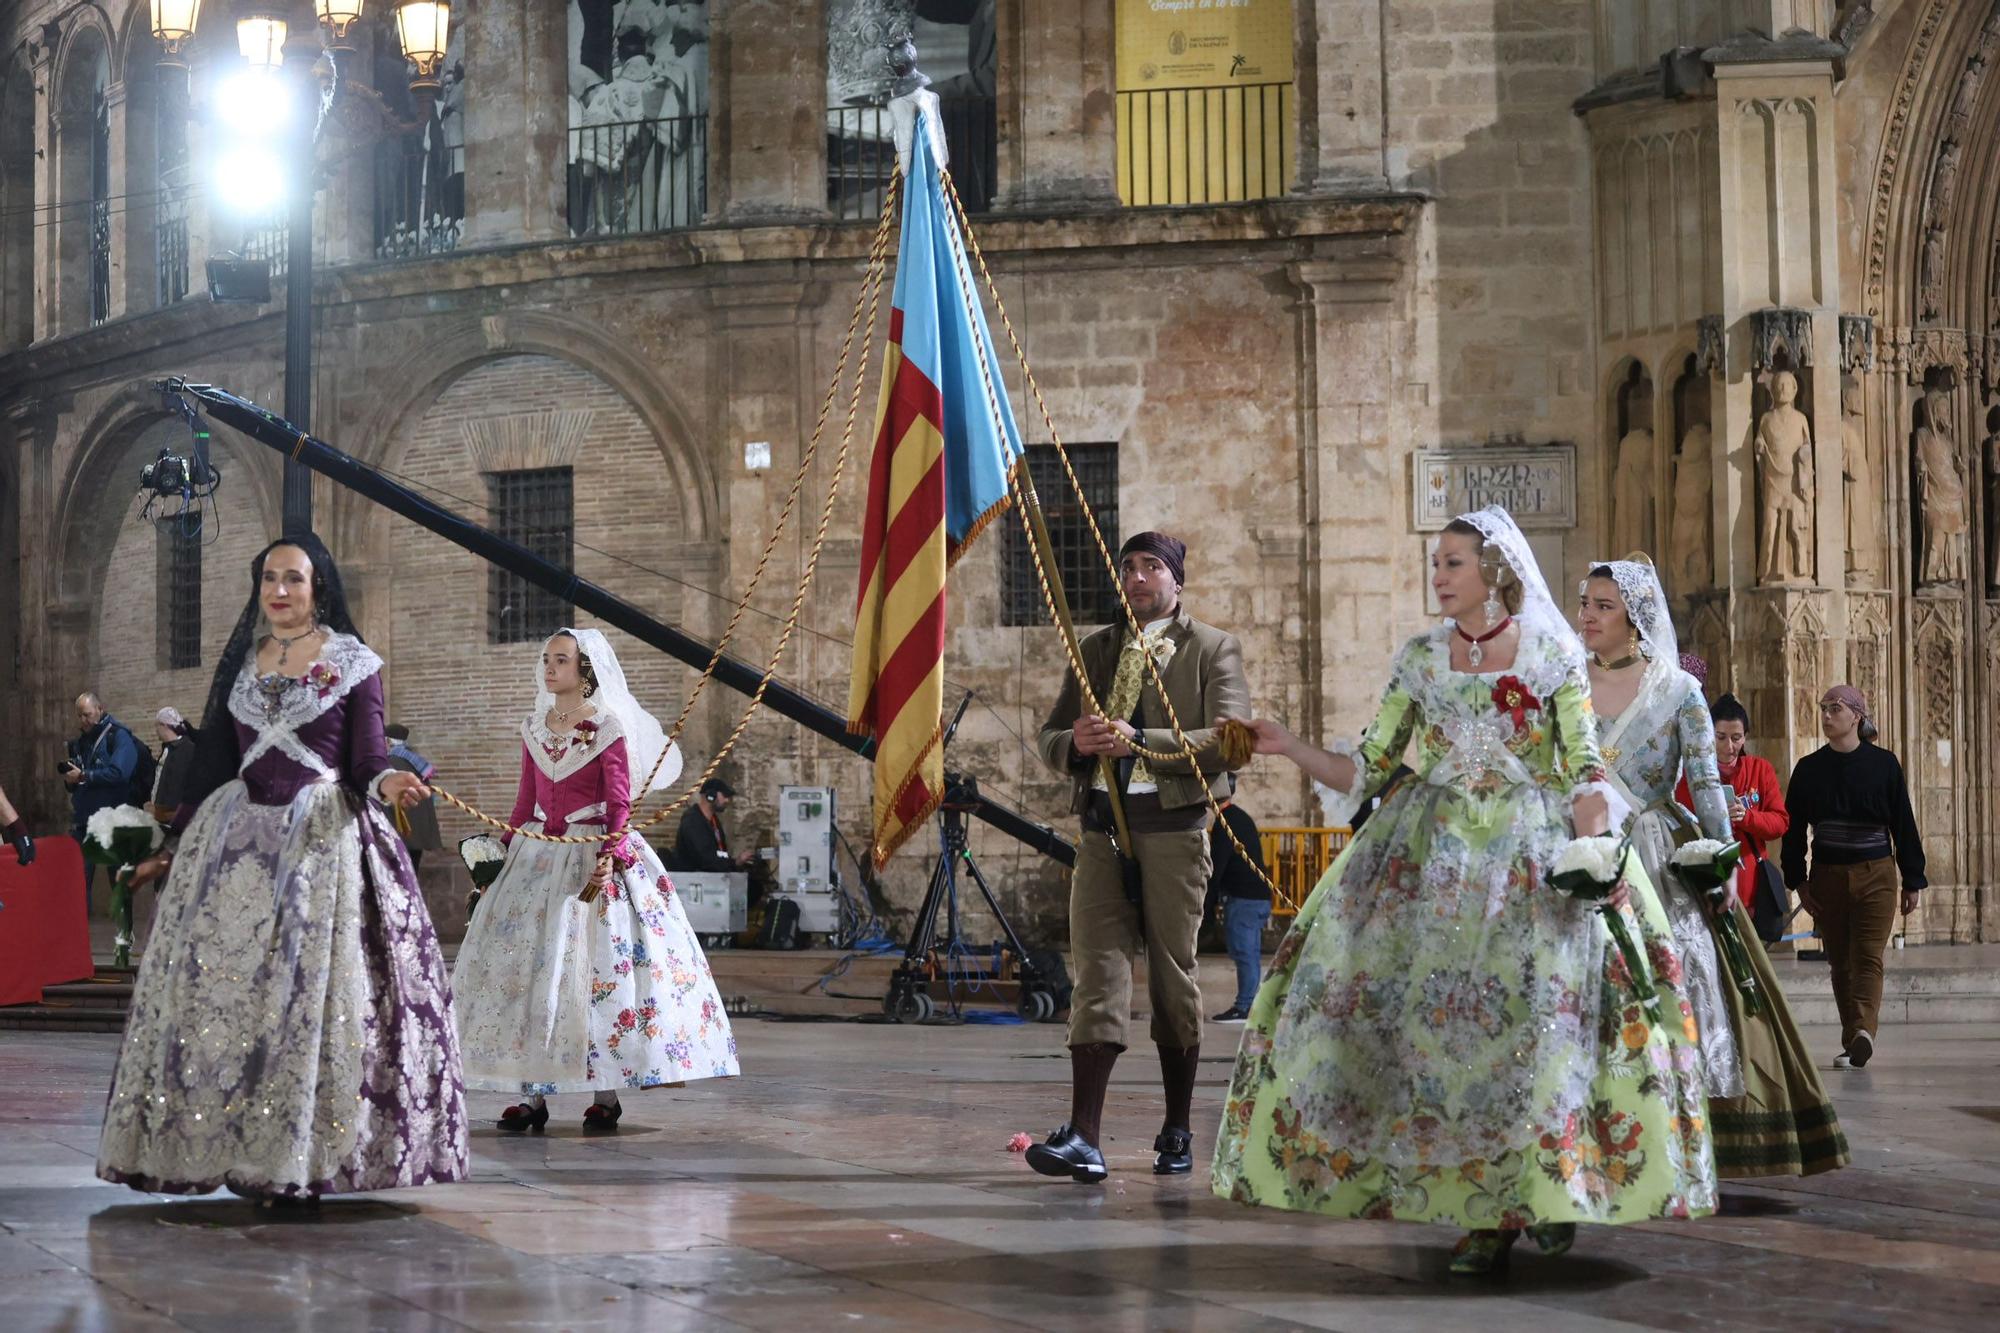
[[(1240, 1029), (1212, 1029), (1210, 1147)], [(490, 1127), (474, 1181), (272, 1221), (92, 1177), (114, 1037), (0, 1033), (0, 1327), (42, 1329), (1982, 1329), (2000, 1309), (2000, 1025), (1890, 1027), (1828, 1075), (1856, 1165), (1728, 1187), (1728, 1215), (1586, 1229), (1452, 1281), (1454, 1235), (1240, 1209), (1148, 1171), (1156, 1069), (1108, 1111), (1112, 1181), (1004, 1151), (1068, 1107), (1054, 1027), (738, 1025), (746, 1077), (582, 1139)], [(1814, 1051), (1834, 1033), (1808, 1029)]]

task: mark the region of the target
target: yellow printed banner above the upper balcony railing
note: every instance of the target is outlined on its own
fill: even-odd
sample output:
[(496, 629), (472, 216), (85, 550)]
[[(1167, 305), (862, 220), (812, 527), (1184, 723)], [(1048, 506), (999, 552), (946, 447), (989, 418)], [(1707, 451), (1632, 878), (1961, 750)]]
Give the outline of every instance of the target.
[(1292, 82), (1292, 0), (1118, 0), (1118, 90)]

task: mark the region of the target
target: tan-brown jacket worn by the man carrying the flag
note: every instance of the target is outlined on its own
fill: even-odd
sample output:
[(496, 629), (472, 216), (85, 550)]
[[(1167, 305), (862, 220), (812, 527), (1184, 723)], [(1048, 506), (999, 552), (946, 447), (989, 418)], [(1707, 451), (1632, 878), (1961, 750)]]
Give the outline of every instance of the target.
[[(1090, 689), (1100, 705), (1110, 695), (1112, 675), (1118, 671), (1118, 648), (1126, 634), (1122, 622), (1108, 624), (1080, 644), (1084, 671), (1090, 673)], [(1166, 662), (1160, 679), (1166, 681), (1166, 697), (1174, 703), (1182, 733), (1194, 745), (1202, 775), (1208, 779), (1208, 791), (1220, 801), (1228, 797), (1230, 789), (1228, 779), (1222, 777), (1222, 757), (1216, 753), (1216, 723), (1250, 719), (1250, 681), (1244, 677), (1242, 644), (1236, 642), (1236, 634), (1202, 624), (1186, 608), (1174, 614), (1174, 624), (1168, 626), (1166, 634), (1174, 640), (1174, 656)], [(1152, 769), (1154, 783), (1160, 785), (1160, 809), (1176, 811), (1202, 805), (1202, 783), (1194, 777), (1194, 767), (1186, 757), (1178, 755), (1180, 743), (1174, 741), (1174, 727), (1160, 703), (1152, 673), (1146, 673), (1142, 681), (1138, 713), (1146, 727), (1140, 731), (1140, 745), (1154, 753), (1176, 753), (1172, 761), (1148, 761), (1146, 765)], [(1072, 729), (1084, 711), (1084, 693), (1076, 687), (1076, 673), (1064, 671), (1062, 693), (1056, 697), (1056, 707), (1048, 711), (1048, 721), (1042, 723), (1038, 749), (1042, 763), (1072, 781), (1070, 811), (1074, 815), (1082, 815), (1090, 805), (1090, 787), (1098, 775), (1096, 759), (1078, 755), (1072, 745)], [(1132, 719), (1114, 721), (1128, 723)]]

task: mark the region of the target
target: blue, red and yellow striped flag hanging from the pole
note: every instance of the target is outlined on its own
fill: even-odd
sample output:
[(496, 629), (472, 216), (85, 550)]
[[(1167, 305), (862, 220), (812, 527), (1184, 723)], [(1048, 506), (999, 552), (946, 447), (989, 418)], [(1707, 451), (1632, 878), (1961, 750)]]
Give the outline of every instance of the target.
[(1022, 456), (928, 116), (912, 140), (848, 687), (848, 729), (876, 739), (878, 867), (944, 799), (944, 574), (1006, 510)]

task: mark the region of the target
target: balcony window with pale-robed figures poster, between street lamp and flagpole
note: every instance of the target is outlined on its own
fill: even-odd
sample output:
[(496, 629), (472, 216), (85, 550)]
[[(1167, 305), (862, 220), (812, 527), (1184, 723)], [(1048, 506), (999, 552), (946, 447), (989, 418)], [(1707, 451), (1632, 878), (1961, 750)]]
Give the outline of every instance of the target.
[(706, 0), (570, 0), (570, 234), (708, 212)]

